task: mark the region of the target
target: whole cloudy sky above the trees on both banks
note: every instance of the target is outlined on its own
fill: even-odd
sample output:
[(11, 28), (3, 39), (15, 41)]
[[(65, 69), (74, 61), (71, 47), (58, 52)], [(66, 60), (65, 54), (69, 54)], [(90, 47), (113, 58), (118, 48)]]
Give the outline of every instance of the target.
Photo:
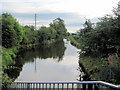
[(86, 19), (93, 23), (98, 18), (111, 14), (119, 0), (0, 0), (0, 13), (12, 14), (21, 25), (34, 25), (37, 14), (37, 28), (49, 26), (60, 17), (68, 32), (73, 33), (83, 27)]

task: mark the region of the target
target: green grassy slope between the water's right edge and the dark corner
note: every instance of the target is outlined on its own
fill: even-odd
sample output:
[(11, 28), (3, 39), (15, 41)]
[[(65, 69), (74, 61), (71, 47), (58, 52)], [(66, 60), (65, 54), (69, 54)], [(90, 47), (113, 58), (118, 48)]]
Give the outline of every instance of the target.
[(79, 57), (80, 63), (84, 66), (91, 80), (101, 80), (100, 70), (106, 66), (105, 62), (100, 58)]

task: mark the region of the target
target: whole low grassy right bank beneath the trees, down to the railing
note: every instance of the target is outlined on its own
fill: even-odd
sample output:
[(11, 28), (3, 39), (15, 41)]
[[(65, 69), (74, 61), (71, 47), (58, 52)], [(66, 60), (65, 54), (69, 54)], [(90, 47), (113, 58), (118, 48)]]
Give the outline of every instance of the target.
[(85, 70), (88, 72), (90, 80), (120, 84), (120, 66), (115, 64), (118, 58), (116, 58), (115, 55), (112, 55), (111, 61), (112, 60), (114, 60), (113, 66), (108, 64), (110, 61), (108, 61), (107, 58), (80, 56), (80, 63), (82, 63)]

